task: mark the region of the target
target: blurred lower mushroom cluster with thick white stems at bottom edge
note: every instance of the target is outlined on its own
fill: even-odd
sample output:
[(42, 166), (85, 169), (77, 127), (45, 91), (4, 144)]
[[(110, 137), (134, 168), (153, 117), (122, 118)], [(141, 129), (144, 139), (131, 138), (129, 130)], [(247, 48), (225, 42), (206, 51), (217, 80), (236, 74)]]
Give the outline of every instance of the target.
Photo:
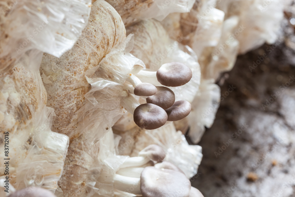
[(114, 175), (114, 188), (118, 196), (143, 197), (202, 197), (176, 165), (163, 161), (164, 150), (151, 144), (130, 157)]

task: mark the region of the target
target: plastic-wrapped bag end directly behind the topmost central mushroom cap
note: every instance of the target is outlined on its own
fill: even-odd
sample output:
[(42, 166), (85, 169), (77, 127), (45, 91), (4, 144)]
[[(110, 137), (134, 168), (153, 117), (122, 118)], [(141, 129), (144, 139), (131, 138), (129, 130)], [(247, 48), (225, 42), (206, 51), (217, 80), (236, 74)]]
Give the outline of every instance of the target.
[[(137, 31), (138, 28), (141, 28), (140, 32)], [(131, 53), (145, 63), (148, 71), (156, 71), (162, 64), (169, 62), (181, 62), (190, 67), (193, 72), (191, 81), (180, 87), (169, 88), (175, 93), (176, 101), (191, 102), (198, 91), (201, 79), (200, 66), (191, 48), (183, 47), (177, 41), (171, 40), (160, 22), (153, 19), (128, 28), (127, 33), (135, 34)]]

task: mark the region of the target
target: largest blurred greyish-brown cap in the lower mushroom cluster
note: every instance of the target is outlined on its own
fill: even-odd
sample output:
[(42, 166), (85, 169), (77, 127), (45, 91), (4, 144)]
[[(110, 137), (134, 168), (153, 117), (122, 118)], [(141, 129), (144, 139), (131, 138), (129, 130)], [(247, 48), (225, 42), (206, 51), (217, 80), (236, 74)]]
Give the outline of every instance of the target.
[(191, 182), (178, 171), (145, 167), (140, 175), (143, 197), (189, 197)]

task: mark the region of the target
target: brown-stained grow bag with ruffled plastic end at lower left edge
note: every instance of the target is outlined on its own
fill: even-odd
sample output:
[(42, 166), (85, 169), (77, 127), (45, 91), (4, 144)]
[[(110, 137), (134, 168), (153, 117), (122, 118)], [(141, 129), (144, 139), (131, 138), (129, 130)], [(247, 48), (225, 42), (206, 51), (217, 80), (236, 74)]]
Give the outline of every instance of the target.
[[(9, 181), (16, 189), (42, 186), (54, 192), (69, 139), (50, 130), (54, 112), (46, 107), (40, 73), (17, 63), (0, 74), (0, 84), (0, 138), (9, 133)], [(0, 148), (4, 161), (4, 140)], [(0, 176), (4, 169), (1, 163)]]

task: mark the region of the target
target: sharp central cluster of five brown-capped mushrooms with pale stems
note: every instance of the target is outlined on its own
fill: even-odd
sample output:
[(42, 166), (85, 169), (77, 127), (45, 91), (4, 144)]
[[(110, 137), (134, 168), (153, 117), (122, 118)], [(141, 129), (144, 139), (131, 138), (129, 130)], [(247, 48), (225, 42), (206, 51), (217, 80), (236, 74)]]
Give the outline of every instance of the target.
[[(175, 102), (175, 94), (168, 88), (182, 86), (191, 80), (192, 71), (188, 66), (171, 62), (154, 72), (140, 70), (143, 66), (139, 65), (134, 68), (124, 84), (122, 106), (133, 114), (137, 126), (156, 129), (166, 121), (178, 121), (189, 115), (191, 104), (185, 100)], [(140, 104), (130, 94), (140, 96), (146, 103)]]

